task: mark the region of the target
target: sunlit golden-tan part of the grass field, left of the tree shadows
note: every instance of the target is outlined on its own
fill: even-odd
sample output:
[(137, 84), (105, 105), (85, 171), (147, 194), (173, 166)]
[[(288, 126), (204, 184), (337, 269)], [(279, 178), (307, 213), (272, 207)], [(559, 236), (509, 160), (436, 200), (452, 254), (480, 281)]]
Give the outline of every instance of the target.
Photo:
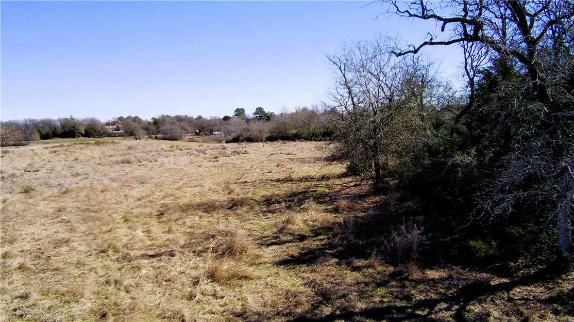
[(317, 144), (170, 144), (2, 149), (1, 320), (271, 317), (252, 296), (303, 287), (259, 282), (285, 270), (255, 242), (275, 221), (254, 198), (284, 175), (258, 169)]

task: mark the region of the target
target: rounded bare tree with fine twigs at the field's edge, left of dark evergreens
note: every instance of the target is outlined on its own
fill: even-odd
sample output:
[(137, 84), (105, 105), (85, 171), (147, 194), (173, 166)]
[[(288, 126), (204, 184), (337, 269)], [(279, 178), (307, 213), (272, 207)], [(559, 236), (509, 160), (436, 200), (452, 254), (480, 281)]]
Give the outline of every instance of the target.
[(396, 57), (387, 40), (358, 41), (328, 56), (337, 74), (329, 106), (338, 112), (332, 158), (374, 172), (383, 187), (393, 158), (420, 142), (436, 84), (431, 65), (420, 57)]

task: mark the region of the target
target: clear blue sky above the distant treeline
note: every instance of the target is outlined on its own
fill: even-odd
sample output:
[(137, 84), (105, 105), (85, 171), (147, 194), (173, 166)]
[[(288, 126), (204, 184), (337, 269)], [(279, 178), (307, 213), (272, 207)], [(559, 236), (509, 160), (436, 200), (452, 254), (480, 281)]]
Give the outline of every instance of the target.
[[(231, 115), (318, 103), (325, 54), (377, 33), (418, 42), (433, 23), (378, 17), (381, 3), (0, 3), (1, 119)], [(456, 48), (429, 49), (445, 76)]]

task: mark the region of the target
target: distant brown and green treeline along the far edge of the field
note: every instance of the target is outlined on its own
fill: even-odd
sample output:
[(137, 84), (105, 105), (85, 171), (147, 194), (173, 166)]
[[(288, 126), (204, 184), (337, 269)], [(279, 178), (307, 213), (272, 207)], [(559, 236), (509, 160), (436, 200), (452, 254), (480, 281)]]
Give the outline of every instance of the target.
[(321, 140), (333, 132), (333, 112), (318, 106), (296, 107), (294, 112), (275, 114), (262, 107), (250, 116), (235, 109), (233, 116), (205, 118), (201, 115), (161, 115), (151, 120), (139, 116), (116, 117), (100, 121), (95, 117), (75, 119), (24, 119), (2, 121), (2, 146), (25, 145), (31, 141), (56, 138), (103, 138), (129, 136), (135, 139), (181, 140), (189, 134), (218, 136), (227, 142), (263, 142), (270, 140)]

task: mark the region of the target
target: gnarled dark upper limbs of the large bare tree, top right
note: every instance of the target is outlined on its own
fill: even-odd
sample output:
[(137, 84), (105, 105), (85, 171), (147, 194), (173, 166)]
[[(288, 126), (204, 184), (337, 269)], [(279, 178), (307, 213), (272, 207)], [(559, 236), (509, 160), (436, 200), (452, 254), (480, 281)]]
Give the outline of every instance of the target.
[[(435, 20), (445, 38), (429, 34), (429, 40), (398, 55), (417, 53), (424, 46), (480, 44), (500, 56), (516, 58), (528, 70), (538, 100), (552, 105), (548, 77), (542, 64), (541, 49), (551, 33), (565, 38), (572, 29), (574, 4), (569, 1), (391, 1), (395, 13), (404, 17)], [(392, 9), (391, 9), (392, 10)], [(448, 15), (451, 13), (451, 15)]]

